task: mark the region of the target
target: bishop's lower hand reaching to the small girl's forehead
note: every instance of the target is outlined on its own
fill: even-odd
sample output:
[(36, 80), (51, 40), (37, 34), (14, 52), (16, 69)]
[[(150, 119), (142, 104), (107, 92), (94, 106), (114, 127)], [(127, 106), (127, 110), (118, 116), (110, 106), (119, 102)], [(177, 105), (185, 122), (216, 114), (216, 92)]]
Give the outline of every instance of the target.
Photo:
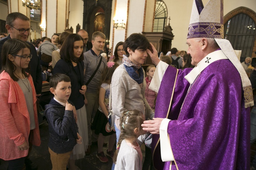
[(159, 128), (163, 118), (153, 118), (153, 120), (146, 120), (141, 125), (144, 131), (148, 131), (152, 134), (159, 134)]

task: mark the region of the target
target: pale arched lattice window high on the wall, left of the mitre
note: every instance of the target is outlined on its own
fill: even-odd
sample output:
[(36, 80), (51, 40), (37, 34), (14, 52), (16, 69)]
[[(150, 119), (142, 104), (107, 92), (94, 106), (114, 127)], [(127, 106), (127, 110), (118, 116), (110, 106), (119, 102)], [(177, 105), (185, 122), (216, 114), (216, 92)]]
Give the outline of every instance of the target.
[(167, 8), (162, 0), (156, 1), (155, 21), (153, 32), (162, 32), (166, 26)]

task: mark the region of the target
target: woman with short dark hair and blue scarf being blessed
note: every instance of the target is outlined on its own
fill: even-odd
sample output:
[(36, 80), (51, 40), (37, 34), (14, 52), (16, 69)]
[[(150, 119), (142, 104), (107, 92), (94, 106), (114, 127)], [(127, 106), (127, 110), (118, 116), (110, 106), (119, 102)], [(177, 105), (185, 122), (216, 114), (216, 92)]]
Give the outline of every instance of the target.
[(116, 115), (115, 130), (118, 142), (120, 135), (119, 119), (122, 113), (137, 109), (145, 117), (152, 119), (154, 112), (145, 98), (145, 71), (141, 67), (147, 57), (146, 49), (150, 48), (148, 39), (133, 33), (123, 44), (126, 55), (112, 77), (112, 109)]

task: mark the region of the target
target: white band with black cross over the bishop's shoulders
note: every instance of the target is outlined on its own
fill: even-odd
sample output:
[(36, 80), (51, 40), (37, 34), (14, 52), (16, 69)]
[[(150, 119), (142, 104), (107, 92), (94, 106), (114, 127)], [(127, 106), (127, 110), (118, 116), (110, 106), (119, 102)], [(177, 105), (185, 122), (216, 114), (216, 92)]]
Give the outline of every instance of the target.
[(214, 51), (207, 56), (205, 56), (198, 64), (197, 67), (195, 67), (193, 70), (190, 71), (185, 76), (185, 79), (192, 84), (198, 75), (206, 68), (208, 67), (211, 63), (217, 61), (217, 60), (223, 60), (223, 59), (228, 59), (228, 57), (223, 53), (222, 50), (217, 50)]

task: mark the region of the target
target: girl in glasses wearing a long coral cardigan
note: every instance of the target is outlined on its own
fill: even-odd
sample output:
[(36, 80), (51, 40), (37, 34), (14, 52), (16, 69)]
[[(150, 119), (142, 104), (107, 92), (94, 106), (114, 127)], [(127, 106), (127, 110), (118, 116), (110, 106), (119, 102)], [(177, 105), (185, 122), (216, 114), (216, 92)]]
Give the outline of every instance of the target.
[(8, 169), (22, 170), (28, 155), (29, 141), (40, 146), (36, 93), (29, 68), (30, 46), (9, 39), (2, 47), (0, 74), (0, 158)]

